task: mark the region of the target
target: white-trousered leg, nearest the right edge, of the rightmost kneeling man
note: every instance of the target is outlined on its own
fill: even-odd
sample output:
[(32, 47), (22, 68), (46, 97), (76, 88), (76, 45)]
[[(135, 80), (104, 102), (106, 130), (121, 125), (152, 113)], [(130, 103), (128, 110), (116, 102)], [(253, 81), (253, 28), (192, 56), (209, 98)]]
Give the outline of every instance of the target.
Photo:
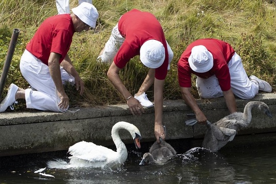
[(241, 99), (252, 99), (258, 94), (259, 86), (250, 81), (242, 65), (241, 57), (235, 53), (228, 63), (233, 94)]

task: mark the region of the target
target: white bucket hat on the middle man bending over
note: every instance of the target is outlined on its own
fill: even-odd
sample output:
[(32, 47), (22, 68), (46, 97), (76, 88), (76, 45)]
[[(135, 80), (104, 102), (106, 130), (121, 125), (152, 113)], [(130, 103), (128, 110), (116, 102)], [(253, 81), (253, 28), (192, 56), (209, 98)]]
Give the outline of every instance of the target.
[(164, 45), (154, 39), (146, 41), (140, 48), (140, 60), (149, 68), (158, 68), (165, 60)]

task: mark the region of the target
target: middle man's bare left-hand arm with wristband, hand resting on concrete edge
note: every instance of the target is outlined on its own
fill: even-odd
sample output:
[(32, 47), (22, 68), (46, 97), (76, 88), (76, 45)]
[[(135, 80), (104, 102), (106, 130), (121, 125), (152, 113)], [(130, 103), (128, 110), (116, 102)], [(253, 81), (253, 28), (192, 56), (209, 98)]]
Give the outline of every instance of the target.
[(144, 112), (143, 106), (138, 100), (136, 100), (134, 97), (131, 97), (132, 95), (129, 93), (119, 76), (120, 70), (121, 68), (117, 67), (116, 64), (112, 62), (107, 72), (107, 77), (112, 82), (114, 87), (120, 92), (120, 94), (122, 94), (123, 97), (127, 100), (127, 105), (131, 113), (133, 115), (142, 114)]

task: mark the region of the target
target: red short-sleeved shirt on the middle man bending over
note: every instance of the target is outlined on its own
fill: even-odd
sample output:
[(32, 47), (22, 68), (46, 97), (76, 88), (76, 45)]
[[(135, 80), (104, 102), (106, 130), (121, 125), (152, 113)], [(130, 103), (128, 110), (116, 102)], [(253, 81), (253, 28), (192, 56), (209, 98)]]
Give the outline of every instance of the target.
[(156, 17), (149, 12), (133, 9), (120, 18), (118, 22), (120, 34), (125, 37), (118, 53), (114, 57), (114, 63), (119, 68), (125, 67), (134, 56), (140, 55), (142, 44), (150, 39), (163, 43), (165, 48), (165, 61), (155, 69), (155, 78), (164, 80), (168, 70), (168, 49), (163, 29)]

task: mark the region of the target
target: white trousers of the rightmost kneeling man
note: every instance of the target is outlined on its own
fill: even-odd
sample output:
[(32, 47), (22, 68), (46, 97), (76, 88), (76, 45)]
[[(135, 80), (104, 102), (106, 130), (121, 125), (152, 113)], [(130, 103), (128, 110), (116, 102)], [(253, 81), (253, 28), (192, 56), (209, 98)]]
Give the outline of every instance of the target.
[[(242, 65), (241, 57), (235, 53), (228, 63), (231, 76), (231, 89), (233, 94), (241, 99), (252, 99), (259, 92), (259, 86), (251, 82)], [(202, 79), (197, 77), (196, 86), (198, 94), (203, 99), (222, 97), (223, 93), (215, 75)]]

